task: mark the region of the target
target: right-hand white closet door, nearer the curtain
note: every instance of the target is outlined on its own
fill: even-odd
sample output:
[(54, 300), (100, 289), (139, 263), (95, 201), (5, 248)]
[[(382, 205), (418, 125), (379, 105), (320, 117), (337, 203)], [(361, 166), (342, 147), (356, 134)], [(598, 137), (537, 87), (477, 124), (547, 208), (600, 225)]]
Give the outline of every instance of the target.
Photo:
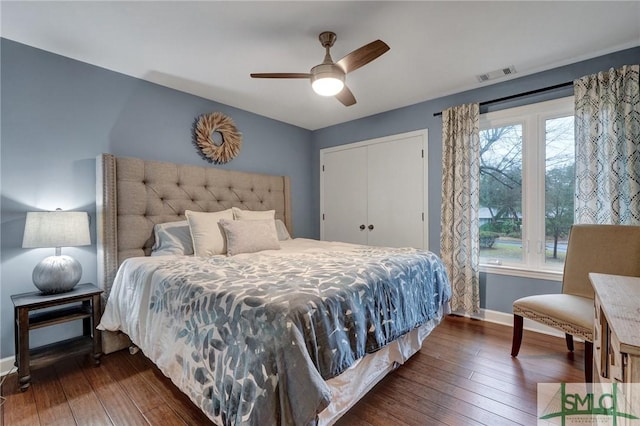
[(422, 155), (421, 136), (369, 145), (369, 245), (424, 248)]

